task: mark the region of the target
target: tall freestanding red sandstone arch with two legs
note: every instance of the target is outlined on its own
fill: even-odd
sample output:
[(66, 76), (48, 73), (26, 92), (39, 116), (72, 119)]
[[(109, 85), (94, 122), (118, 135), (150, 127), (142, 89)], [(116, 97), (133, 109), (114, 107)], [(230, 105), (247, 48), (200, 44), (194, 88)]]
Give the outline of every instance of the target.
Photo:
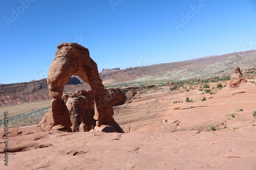
[(110, 97), (99, 78), (97, 64), (90, 58), (89, 50), (77, 43), (62, 43), (57, 47), (47, 79), (49, 95), (54, 98), (47, 116), (47, 127), (72, 127), (69, 109), (61, 98), (64, 86), (72, 75), (79, 76), (92, 88), (96, 125), (100, 127), (104, 122), (114, 122)]

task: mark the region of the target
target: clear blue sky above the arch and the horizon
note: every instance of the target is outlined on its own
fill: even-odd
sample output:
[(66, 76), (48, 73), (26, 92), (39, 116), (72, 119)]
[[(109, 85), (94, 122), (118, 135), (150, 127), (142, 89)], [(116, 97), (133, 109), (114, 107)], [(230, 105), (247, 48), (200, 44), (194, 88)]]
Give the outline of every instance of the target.
[(0, 0), (0, 83), (46, 78), (62, 41), (101, 71), (255, 50), (255, 33), (254, 0)]

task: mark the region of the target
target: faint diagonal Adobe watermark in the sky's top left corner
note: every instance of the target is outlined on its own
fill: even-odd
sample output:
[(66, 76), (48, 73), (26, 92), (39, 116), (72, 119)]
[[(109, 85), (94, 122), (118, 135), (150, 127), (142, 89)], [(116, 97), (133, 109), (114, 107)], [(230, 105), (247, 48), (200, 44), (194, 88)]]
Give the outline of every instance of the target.
[(7, 27), (10, 27), (11, 22), (15, 22), (19, 18), (20, 14), (23, 14), (26, 9), (28, 9), (31, 5), (31, 3), (35, 2), (36, 0), (20, 0), (19, 3), (21, 4), (15, 9), (11, 9), (11, 16), (5, 16), (4, 20), (7, 25)]

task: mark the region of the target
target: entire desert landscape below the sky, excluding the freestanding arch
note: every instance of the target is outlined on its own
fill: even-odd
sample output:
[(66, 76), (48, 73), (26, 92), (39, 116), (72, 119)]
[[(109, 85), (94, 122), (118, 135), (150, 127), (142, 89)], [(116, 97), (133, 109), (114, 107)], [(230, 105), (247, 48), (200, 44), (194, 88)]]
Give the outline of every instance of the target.
[(0, 167), (8, 153), (4, 169), (256, 169), (255, 66), (256, 51), (246, 51), (103, 69), (99, 78), (124, 133), (97, 126), (93, 90), (78, 76), (61, 93), (71, 132), (49, 128), (46, 79), (2, 84)]

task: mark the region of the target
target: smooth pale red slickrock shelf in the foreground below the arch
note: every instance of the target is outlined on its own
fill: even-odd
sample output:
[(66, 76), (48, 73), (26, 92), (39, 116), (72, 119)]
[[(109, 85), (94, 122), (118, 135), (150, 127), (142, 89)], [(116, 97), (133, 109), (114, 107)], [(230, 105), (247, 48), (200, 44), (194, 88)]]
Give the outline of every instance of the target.
[(255, 129), (121, 134), (12, 128), (8, 166), (4, 166), (4, 143), (0, 143), (0, 167), (254, 170), (255, 134)]

